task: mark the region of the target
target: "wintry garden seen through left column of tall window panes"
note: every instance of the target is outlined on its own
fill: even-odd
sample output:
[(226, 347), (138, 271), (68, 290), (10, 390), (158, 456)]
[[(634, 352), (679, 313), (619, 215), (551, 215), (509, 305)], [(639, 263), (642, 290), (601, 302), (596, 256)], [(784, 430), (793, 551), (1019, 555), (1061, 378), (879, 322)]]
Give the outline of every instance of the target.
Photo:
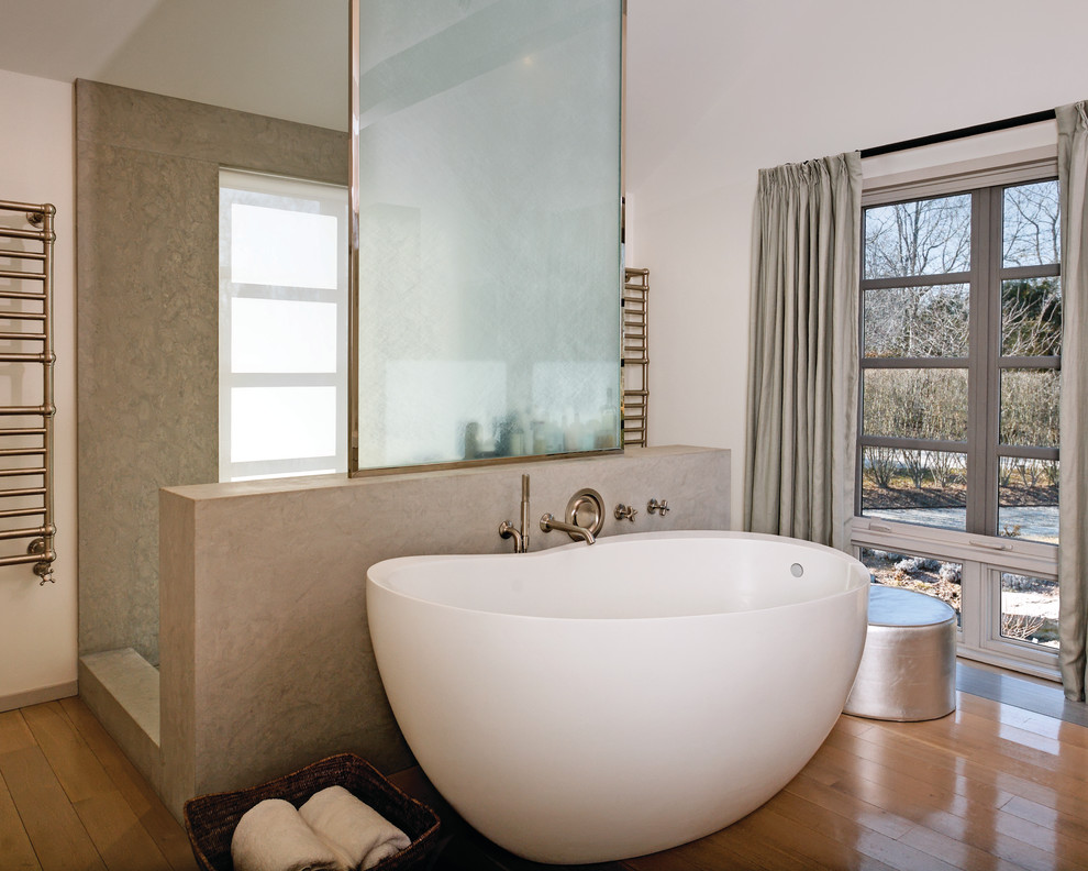
[[(866, 209), (864, 272), (876, 286), (863, 293), (863, 359), (895, 367), (863, 370), (863, 436), (966, 439), (970, 230), (970, 195)], [(934, 368), (930, 359), (963, 363)], [(865, 446), (863, 511), (930, 509), (915, 518), (963, 528), (955, 512), (966, 505), (965, 460), (909, 444)]]

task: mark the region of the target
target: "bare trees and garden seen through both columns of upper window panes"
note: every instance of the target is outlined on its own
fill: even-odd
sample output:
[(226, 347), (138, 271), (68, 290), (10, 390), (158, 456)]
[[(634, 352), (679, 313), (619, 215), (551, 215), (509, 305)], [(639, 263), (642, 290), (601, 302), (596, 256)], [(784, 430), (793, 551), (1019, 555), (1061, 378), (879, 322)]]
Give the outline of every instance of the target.
[[(974, 452), (975, 462), (992, 470), (989, 486), (998, 485), (1002, 521), (1022, 522), (973, 531), (1050, 540), (1048, 532), (1033, 532), (1031, 522), (1053, 515), (1057, 505), (1047, 474), (1056, 476), (1058, 445), (1057, 184), (991, 190), (1001, 205), (999, 252), (989, 251), (988, 230), (980, 239), (972, 235), (977, 194), (865, 210), (861, 508), (966, 530), (966, 466)], [(992, 287), (973, 287), (976, 258), (992, 264)], [(989, 341), (972, 335), (972, 329), (990, 329), (985, 319), (973, 322), (979, 294), (993, 294), (989, 308), (999, 311), (992, 321), (1000, 330), (999, 351), (988, 364), (996, 367), (993, 376), (970, 375), (980, 353), (973, 343)], [(993, 395), (987, 398), (991, 377)], [(989, 406), (992, 411), (985, 410)], [(998, 443), (969, 446), (968, 421), (990, 414)], [(1040, 448), (1054, 449), (1054, 456), (1039, 455)]]

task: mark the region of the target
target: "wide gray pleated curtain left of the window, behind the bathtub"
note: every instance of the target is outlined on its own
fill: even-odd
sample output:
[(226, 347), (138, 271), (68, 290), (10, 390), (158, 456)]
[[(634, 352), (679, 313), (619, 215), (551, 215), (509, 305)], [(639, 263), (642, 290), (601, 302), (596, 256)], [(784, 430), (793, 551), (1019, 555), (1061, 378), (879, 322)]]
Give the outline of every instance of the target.
[(846, 550), (854, 515), (862, 162), (759, 172), (744, 528)]

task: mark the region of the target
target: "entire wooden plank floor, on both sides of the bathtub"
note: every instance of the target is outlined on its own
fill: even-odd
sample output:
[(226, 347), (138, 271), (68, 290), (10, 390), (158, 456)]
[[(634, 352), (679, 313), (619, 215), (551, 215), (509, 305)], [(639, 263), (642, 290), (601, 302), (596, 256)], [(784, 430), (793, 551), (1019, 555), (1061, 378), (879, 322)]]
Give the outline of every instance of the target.
[[(418, 770), (395, 780), (428, 789)], [(440, 813), (455, 838), (435, 871), (544, 868), (481, 850), (482, 839)], [(181, 827), (81, 702), (0, 714), (2, 871), (195, 868)], [(1088, 869), (1088, 728), (967, 693), (955, 714), (930, 723), (844, 716), (755, 813), (606, 868)]]

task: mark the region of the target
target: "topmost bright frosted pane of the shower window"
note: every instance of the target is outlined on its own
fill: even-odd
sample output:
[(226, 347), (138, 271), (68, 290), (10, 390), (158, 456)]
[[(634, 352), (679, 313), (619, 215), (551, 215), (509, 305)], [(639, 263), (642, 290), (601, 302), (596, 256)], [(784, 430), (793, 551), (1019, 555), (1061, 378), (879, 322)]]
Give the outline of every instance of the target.
[(336, 289), (340, 228), (333, 214), (231, 205), (231, 280)]

